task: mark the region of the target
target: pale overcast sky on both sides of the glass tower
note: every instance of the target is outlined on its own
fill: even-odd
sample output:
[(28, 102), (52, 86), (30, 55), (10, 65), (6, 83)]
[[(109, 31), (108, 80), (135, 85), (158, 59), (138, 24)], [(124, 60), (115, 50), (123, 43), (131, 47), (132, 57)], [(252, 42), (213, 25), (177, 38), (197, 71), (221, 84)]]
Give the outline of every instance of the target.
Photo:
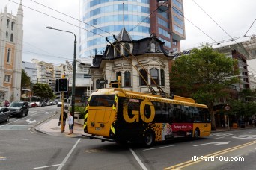
[[(19, 0), (0, 0), (0, 9), (4, 11), (7, 5), (7, 12), (15, 16), (19, 7)], [(56, 65), (64, 63), (65, 60), (73, 60), (73, 34), (61, 31), (49, 30), (46, 26), (72, 31), (79, 39), (79, 22), (63, 16), (40, 4), (51, 7), (65, 13), (68, 16), (79, 19), (79, 0), (22, 0), (24, 11), (23, 22), (23, 57), (22, 60), (31, 62), (32, 58), (43, 60)], [(150, 0), (151, 1), (151, 0)], [(252, 22), (256, 19), (255, 0), (183, 0), (186, 40), (181, 42), (181, 48), (189, 49), (198, 47), (202, 43), (213, 43), (222, 40), (230, 40), (231, 37), (243, 37), (248, 31)], [(195, 3), (196, 2), (196, 3)], [(225, 31), (222, 31), (206, 13), (212, 17)], [(29, 8), (34, 10), (31, 10)], [(39, 13), (37, 11), (42, 13)], [(46, 13), (49, 16), (46, 16)], [(54, 19), (52, 17), (62, 19)], [(192, 23), (190, 23), (188, 20)], [(70, 24), (68, 24), (69, 22)], [(194, 25), (204, 31), (196, 28)], [(74, 26), (76, 25), (76, 26)], [(246, 35), (256, 34), (256, 22)], [(231, 37), (230, 37), (231, 36)], [(213, 40), (212, 40), (213, 39)], [(240, 40), (237, 40), (240, 41)], [(78, 50), (77, 50), (78, 51)]]

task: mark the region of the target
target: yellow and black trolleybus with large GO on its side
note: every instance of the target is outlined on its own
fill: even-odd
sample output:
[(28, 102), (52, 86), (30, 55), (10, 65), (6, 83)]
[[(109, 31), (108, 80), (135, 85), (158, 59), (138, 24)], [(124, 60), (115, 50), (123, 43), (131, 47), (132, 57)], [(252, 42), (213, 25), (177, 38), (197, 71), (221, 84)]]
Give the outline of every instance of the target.
[(210, 135), (207, 106), (191, 98), (99, 89), (85, 108), (85, 135), (112, 142), (154, 142)]

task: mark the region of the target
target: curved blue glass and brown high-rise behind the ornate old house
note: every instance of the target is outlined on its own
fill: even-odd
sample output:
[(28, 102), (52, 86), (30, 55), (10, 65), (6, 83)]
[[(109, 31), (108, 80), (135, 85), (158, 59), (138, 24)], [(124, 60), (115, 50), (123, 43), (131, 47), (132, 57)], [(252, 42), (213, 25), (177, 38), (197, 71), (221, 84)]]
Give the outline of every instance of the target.
[(81, 0), (80, 12), (79, 57), (102, 54), (124, 27), (132, 40), (155, 33), (166, 51), (185, 39), (183, 0)]

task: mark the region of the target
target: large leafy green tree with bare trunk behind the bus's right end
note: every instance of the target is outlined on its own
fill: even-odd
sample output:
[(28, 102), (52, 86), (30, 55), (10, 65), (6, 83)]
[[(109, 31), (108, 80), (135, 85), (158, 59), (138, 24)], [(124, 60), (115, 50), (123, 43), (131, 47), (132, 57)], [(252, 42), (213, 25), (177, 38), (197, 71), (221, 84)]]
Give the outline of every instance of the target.
[(171, 68), (171, 86), (186, 92), (198, 103), (207, 104), (212, 129), (216, 130), (214, 102), (227, 96), (225, 89), (239, 82), (237, 60), (213, 51), (208, 45), (192, 50), (192, 54), (174, 60)]

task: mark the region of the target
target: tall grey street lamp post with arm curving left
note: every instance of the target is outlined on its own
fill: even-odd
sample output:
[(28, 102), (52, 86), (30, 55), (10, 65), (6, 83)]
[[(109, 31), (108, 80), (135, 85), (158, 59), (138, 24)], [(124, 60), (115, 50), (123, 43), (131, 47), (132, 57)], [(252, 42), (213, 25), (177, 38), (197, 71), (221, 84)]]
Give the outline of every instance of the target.
[[(64, 31), (52, 27), (46, 27), (48, 29), (57, 30), (57, 31)], [(64, 31), (67, 33), (73, 34), (73, 32), (70, 31)], [(75, 36), (74, 40), (74, 56), (73, 56), (73, 82), (72, 82), (72, 96), (71, 96), (71, 113), (74, 118), (74, 112), (75, 112), (75, 92), (76, 92), (76, 34), (73, 34)]]

